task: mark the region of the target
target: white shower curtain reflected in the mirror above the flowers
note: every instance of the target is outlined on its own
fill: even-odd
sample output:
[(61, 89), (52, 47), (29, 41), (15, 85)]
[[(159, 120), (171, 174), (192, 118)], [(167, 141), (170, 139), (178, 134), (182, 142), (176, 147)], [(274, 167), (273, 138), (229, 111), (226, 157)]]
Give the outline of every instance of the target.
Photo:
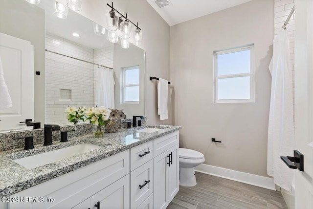
[(98, 68), (95, 87), (95, 103), (97, 107), (105, 106), (115, 109), (114, 85), (112, 70)]

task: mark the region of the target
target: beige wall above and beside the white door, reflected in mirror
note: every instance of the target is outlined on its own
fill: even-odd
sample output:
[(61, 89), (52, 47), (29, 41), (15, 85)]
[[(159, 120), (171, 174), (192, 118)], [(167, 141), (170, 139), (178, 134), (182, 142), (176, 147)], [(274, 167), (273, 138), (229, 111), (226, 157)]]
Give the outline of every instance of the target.
[[(34, 46), (35, 121), (45, 123), (45, 11), (25, 0), (0, 0), (0, 32)], [(40, 75), (35, 75), (40, 71)]]

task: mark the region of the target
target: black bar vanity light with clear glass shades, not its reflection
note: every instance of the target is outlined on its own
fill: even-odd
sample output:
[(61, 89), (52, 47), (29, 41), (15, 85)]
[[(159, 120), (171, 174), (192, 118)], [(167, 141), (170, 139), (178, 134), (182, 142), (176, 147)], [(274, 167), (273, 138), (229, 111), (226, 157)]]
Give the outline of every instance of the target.
[[(109, 29), (109, 41), (112, 42), (112, 33), (110, 35), (110, 30), (115, 31), (118, 28), (118, 19), (116, 21), (113, 21), (113, 18), (116, 16), (116, 13), (118, 13), (121, 18), (124, 18), (125, 21), (123, 21), (122, 23), (120, 23), (119, 28), (122, 32), (122, 36), (121, 36), (121, 44), (124, 46), (127, 46), (126, 41), (128, 42), (128, 47), (129, 47), (129, 41), (127, 39), (130, 38), (130, 34), (131, 34), (131, 28), (132, 28), (132, 24), (134, 24), (132, 21), (130, 21), (127, 18), (127, 14), (126, 17), (124, 15), (122, 15), (120, 12), (118, 12), (116, 9), (113, 8), (113, 2), (112, 2), (112, 6), (110, 4), (107, 3), (107, 5), (111, 8), (111, 10), (106, 14), (106, 19), (107, 19), (107, 24), (108, 24), (108, 29)], [(113, 29), (110, 29), (110, 27), (112, 26), (112, 24), (116, 24), (114, 25)], [(134, 24), (134, 26), (136, 27), (136, 29), (134, 30), (134, 39), (135, 39), (135, 45), (139, 45), (141, 43), (142, 40), (142, 32), (140, 27), (138, 27), (138, 23), (137, 25)], [(115, 33), (113, 33), (114, 35), (116, 35)], [(118, 37), (117, 37), (118, 39)], [(122, 40), (123, 39), (123, 40)], [(116, 39), (114, 39), (115, 41)], [(112, 43), (116, 43), (116, 42), (112, 42)], [(123, 47), (123, 46), (122, 46)], [(128, 48), (127, 47), (127, 48)], [(126, 47), (125, 47), (126, 48)]]

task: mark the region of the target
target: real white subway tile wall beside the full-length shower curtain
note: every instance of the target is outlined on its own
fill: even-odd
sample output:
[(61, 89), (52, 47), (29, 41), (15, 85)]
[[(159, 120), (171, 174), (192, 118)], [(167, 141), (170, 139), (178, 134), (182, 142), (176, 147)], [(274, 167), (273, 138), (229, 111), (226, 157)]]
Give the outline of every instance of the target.
[[(278, 31), (282, 28), (291, 9), (294, 5), (294, 0), (274, 0), (274, 31), (275, 36)], [(292, 87), (293, 87), (293, 104), (294, 104), (294, 18), (295, 13), (291, 16), (289, 24), (287, 25), (287, 30), (289, 34), (290, 41), (290, 58), (291, 58), (291, 70), (292, 70)], [(294, 111), (294, 109), (293, 109)]]

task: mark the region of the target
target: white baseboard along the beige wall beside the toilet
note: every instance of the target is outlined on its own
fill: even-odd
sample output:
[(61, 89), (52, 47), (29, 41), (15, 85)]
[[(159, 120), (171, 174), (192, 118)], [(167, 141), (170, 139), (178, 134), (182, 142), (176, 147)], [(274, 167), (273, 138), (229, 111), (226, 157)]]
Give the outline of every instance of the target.
[(244, 173), (236, 170), (230, 170), (227, 168), (216, 167), (207, 164), (200, 164), (195, 167), (195, 171), (210, 174), (212, 176), (222, 177), (224, 179), (230, 179), (237, 182), (246, 183), (249, 185), (260, 186), (263, 188), (276, 190), (274, 180), (265, 176), (258, 176), (250, 173)]

